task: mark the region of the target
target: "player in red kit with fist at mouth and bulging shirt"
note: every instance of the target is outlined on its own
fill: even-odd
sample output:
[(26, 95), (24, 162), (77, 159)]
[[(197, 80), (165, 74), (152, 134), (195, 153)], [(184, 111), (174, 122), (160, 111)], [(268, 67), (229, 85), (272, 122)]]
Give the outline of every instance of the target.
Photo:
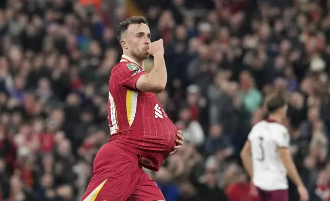
[[(95, 156), (93, 177), (81, 200), (165, 200), (156, 182), (142, 170), (158, 171), (163, 160), (183, 144), (181, 131), (155, 95), (167, 82), (163, 41), (150, 42), (145, 17), (128, 18), (117, 31), (123, 55), (110, 75), (110, 140)], [(150, 54), (154, 67), (147, 73), (142, 67)]]

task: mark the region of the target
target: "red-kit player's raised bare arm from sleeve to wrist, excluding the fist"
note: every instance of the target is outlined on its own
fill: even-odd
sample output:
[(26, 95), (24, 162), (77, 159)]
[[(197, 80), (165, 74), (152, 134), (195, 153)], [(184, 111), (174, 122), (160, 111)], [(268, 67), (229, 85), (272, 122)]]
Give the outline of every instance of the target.
[(165, 89), (167, 83), (167, 72), (163, 54), (154, 55), (154, 67), (150, 73), (141, 75), (136, 88), (140, 91), (160, 93)]

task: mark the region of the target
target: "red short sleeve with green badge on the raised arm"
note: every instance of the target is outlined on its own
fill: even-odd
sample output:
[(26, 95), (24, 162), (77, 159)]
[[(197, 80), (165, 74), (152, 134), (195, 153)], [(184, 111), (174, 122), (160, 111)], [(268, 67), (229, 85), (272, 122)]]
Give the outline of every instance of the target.
[(138, 91), (138, 89), (136, 89), (136, 82), (141, 75), (147, 72), (135, 63), (122, 62), (118, 67), (116, 74), (119, 76), (118, 81), (120, 85)]

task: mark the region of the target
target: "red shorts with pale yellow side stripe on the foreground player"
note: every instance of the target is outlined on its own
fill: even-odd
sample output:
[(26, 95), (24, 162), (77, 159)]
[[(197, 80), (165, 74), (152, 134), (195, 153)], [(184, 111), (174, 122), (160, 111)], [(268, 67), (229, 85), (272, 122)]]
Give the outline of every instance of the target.
[(107, 143), (95, 156), (93, 177), (83, 201), (165, 200), (156, 182), (142, 170), (138, 157)]

